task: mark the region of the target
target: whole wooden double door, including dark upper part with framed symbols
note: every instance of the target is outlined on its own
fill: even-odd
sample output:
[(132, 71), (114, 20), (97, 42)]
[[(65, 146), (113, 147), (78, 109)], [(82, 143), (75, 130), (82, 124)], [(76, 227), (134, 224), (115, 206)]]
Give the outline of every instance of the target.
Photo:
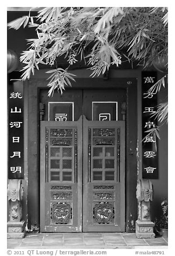
[(125, 90), (43, 90), (40, 103), (40, 231), (125, 231)]

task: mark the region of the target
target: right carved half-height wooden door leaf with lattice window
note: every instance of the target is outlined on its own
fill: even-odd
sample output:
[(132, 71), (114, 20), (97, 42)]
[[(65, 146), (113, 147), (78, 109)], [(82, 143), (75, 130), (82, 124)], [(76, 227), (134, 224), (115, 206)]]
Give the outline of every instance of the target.
[(83, 118), (83, 231), (125, 231), (125, 122)]

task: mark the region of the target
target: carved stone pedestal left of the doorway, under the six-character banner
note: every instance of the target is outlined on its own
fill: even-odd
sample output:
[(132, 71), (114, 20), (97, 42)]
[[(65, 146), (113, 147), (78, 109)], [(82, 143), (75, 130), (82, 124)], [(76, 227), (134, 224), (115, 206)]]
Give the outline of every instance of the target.
[(23, 196), (24, 186), (21, 183), (21, 180), (10, 180), (8, 184), (8, 201), (10, 209), (10, 221), (8, 222), (8, 238), (21, 238), (25, 236), (25, 222), (21, 221), (21, 200), (23, 200)]

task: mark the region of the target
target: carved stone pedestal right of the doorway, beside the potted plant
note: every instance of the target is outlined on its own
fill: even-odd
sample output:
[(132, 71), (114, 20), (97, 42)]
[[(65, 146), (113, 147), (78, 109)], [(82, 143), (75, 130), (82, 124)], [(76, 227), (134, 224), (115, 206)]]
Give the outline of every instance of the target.
[(136, 221), (136, 237), (152, 238), (154, 223), (151, 222), (150, 202), (152, 201), (152, 183), (150, 180), (138, 180), (136, 198), (138, 201), (138, 219)]

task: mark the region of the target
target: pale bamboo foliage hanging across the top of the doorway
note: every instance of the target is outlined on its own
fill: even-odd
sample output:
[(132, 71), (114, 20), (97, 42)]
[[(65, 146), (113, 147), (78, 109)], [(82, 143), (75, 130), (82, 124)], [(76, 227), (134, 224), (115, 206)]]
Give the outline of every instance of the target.
[[(30, 13), (8, 27), (18, 30), (27, 24), (35, 29), (37, 38), (28, 39), (28, 49), (21, 55), (25, 65), (22, 77), (29, 79), (39, 65), (56, 66), (53, 70), (57, 71), (49, 78), (49, 95), (54, 89), (62, 93), (70, 86), (68, 68), (79, 60), (88, 63), (94, 77), (104, 74), (111, 65), (119, 67), (122, 56), (143, 67), (151, 66), (155, 56), (167, 56), (167, 8), (46, 7), (37, 17)], [(57, 68), (60, 56), (67, 61), (64, 71)], [(156, 91), (161, 84), (165, 85), (164, 79), (156, 84)]]

